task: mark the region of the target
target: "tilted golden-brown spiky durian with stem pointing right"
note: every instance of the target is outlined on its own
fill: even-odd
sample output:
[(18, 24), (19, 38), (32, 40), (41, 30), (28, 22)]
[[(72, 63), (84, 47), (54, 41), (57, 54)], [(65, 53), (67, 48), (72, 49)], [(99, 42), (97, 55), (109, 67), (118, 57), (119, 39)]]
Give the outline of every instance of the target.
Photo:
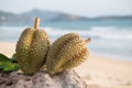
[(46, 70), (57, 74), (80, 65), (88, 58), (86, 44), (90, 38), (82, 40), (77, 33), (68, 33), (56, 40), (51, 46), (46, 58)]

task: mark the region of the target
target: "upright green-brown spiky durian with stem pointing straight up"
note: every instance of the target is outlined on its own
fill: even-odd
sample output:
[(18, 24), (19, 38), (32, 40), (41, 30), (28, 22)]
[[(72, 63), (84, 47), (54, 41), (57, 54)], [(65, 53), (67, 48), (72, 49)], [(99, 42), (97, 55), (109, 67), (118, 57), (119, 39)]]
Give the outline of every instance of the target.
[(46, 59), (50, 38), (45, 31), (38, 30), (40, 19), (35, 19), (33, 28), (25, 29), (16, 44), (16, 57), (21, 70), (32, 75), (40, 70)]

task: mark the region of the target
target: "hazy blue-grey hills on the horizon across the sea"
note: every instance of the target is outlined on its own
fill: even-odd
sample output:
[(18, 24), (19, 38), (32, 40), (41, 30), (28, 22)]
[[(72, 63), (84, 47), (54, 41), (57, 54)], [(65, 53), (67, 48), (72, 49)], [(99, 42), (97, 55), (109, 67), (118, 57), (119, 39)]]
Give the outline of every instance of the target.
[(26, 23), (34, 21), (35, 16), (40, 16), (42, 22), (56, 22), (56, 21), (95, 21), (95, 20), (132, 20), (132, 15), (106, 15), (98, 18), (79, 16), (57, 11), (43, 11), (38, 9), (15, 14), (11, 12), (0, 11), (0, 23), (19, 22)]

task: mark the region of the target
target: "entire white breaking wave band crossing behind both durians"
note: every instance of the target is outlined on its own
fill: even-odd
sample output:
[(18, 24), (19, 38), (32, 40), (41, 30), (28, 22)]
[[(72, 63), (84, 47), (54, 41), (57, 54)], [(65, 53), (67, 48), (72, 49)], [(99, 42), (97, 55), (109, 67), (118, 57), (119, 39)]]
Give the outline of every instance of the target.
[[(0, 35), (18, 36), (28, 26), (0, 26)], [(105, 38), (105, 40), (127, 40), (132, 41), (132, 28), (117, 28), (117, 26), (91, 26), (85, 30), (73, 30), (69, 28), (41, 28), (45, 30), (51, 36), (61, 36), (69, 32), (76, 32), (81, 36), (91, 36), (94, 38)]]

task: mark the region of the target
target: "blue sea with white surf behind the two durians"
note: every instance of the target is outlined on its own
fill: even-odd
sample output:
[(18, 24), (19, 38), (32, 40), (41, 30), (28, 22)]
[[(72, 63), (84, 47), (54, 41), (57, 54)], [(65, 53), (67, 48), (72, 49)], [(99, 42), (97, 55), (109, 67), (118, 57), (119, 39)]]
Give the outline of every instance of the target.
[[(22, 31), (34, 23), (0, 23), (0, 42), (16, 43)], [(82, 38), (91, 37), (87, 44), (90, 53), (121, 61), (132, 61), (132, 20), (59, 21), (43, 22), (52, 41), (66, 33), (78, 33)]]

